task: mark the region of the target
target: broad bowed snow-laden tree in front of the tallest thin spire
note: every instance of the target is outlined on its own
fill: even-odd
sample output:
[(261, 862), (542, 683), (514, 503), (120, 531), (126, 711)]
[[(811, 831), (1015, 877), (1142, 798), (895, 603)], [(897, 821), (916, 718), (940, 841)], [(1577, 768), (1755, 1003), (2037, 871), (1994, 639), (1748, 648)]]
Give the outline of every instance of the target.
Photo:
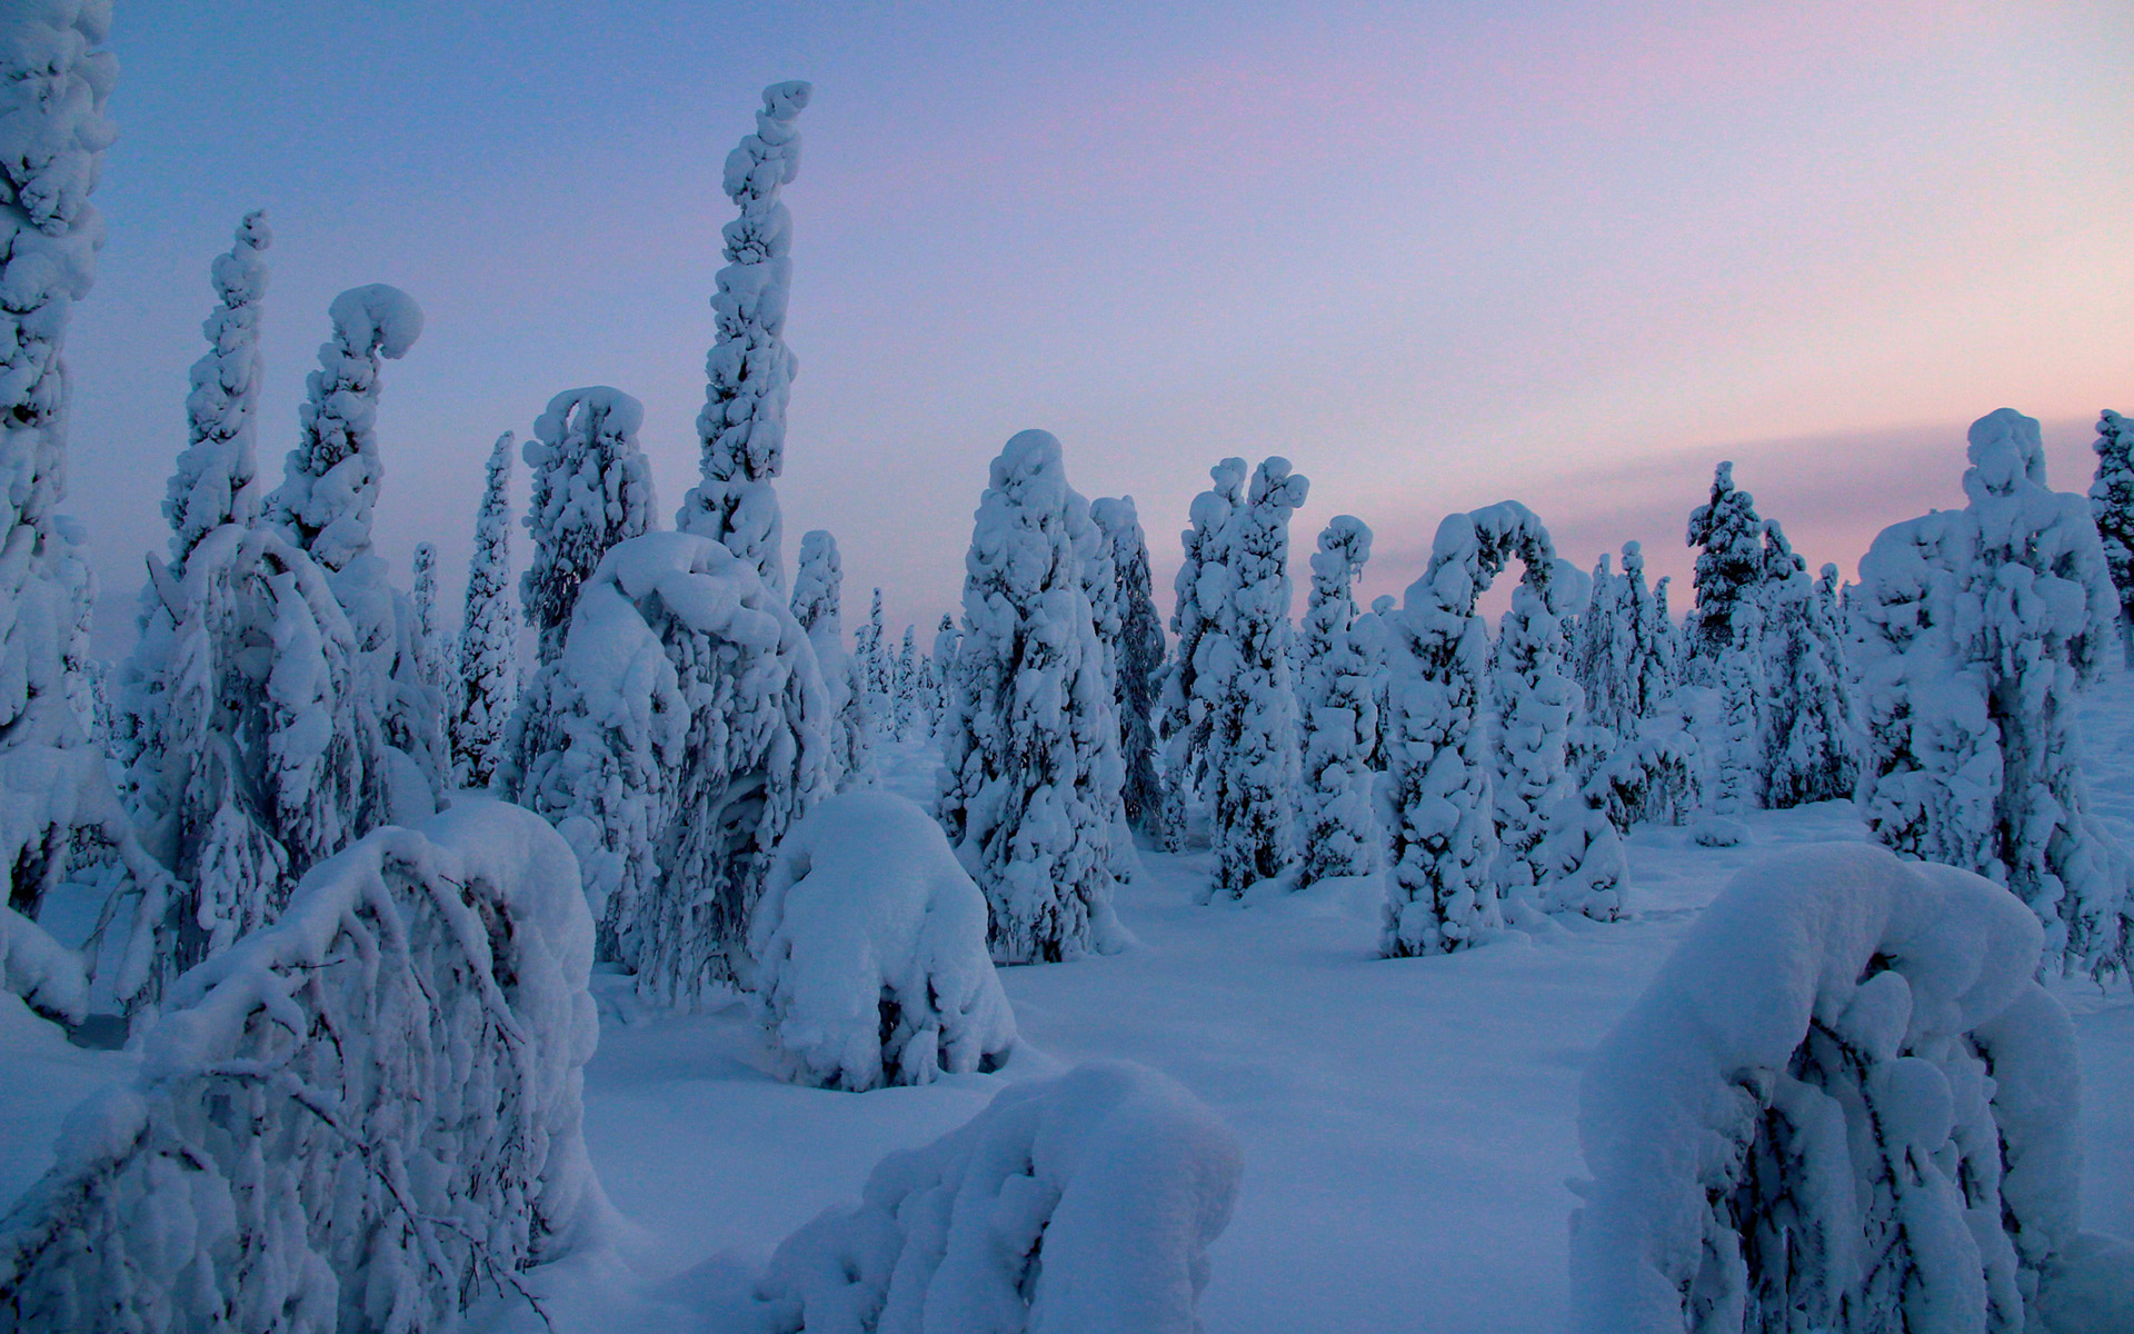
[(785, 600), (708, 538), (621, 542), (521, 713), (501, 781), (578, 854), (602, 954), (666, 1003), (732, 982), (770, 852), (832, 785), (828, 694)]

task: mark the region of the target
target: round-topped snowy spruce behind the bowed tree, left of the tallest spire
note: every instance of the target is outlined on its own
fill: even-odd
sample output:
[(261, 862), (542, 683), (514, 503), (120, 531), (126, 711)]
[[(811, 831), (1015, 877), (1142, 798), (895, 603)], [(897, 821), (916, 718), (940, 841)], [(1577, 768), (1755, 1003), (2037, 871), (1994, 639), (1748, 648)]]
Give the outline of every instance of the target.
[(519, 576), (519, 602), (542, 666), (563, 651), (578, 585), (610, 546), (653, 529), (653, 476), (638, 448), (642, 423), (644, 406), (604, 384), (555, 395), (534, 423), (525, 444), (534, 557)]

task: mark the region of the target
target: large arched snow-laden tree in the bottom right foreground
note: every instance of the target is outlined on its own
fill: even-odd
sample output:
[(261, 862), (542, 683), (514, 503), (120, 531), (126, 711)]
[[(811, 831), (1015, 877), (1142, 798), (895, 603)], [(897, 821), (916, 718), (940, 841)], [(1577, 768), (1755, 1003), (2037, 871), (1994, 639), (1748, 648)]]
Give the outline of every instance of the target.
[(2038, 1328), (2081, 1217), (2038, 946), (2000, 886), (1872, 845), (1737, 875), (1586, 1069), (1579, 1328)]

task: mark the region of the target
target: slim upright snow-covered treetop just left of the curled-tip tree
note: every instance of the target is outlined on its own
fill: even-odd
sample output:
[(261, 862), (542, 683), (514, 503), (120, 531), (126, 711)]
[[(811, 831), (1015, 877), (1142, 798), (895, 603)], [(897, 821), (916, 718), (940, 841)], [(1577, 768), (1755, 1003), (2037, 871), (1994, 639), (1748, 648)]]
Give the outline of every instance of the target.
[(258, 457), (254, 429), (262, 359), (260, 312), (273, 233), (267, 213), (245, 213), (237, 239), (218, 254), (209, 277), (222, 305), (201, 324), (207, 354), (192, 363), (186, 395), (186, 450), (177, 457), (162, 514), (171, 521), (171, 561), (184, 563), (201, 536), (224, 523), (258, 519)]

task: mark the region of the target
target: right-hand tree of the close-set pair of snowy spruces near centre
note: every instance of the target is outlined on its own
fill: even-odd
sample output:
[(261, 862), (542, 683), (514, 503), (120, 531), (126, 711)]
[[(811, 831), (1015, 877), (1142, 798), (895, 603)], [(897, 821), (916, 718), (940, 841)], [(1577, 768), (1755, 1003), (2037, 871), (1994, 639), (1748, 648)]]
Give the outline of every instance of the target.
[[(1214, 892), (1238, 896), (1295, 856), (1297, 683), (1289, 657), (1289, 517), (1310, 482), (1289, 459), (1253, 470), (1253, 487), (1216, 546), (1229, 595), (1201, 636), (1193, 689), (1208, 715), (1208, 824)], [(1206, 583), (1206, 581), (1204, 581)]]

